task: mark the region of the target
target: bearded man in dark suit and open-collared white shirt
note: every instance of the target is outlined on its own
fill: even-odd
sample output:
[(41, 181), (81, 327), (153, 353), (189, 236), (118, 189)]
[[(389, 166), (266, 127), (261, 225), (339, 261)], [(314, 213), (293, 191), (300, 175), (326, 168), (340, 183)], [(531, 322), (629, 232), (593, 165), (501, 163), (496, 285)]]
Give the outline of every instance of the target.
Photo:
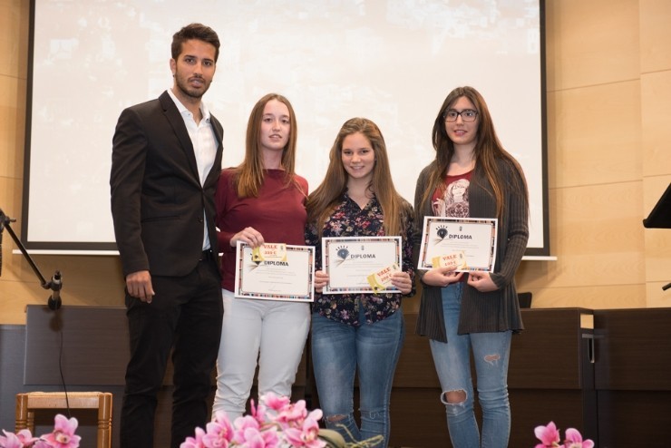
[(174, 34), (172, 88), (125, 109), (112, 140), (112, 218), (131, 337), (122, 448), (153, 444), (170, 349), (171, 446), (207, 421), (223, 316), (214, 191), (224, 131), (201, 97), (218, 56), (219, 37), (208, 26)]

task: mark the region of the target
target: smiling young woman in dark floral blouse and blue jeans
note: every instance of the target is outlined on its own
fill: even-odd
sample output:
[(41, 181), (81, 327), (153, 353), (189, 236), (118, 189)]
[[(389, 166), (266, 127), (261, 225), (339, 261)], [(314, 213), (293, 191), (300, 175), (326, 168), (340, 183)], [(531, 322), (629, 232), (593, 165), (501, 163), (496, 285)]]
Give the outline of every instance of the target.
[[(312, 361), (326, 427), (345, 440), (377, 436), (389, 443), (389, 399), (404, 341), (401, 297), (413, 293), (413, 208), (394, 189), (382, 133), (374, 122), (353, 118), (338, 132), (322, 184), (307, 200), (306, 243), (316, 247), (316, 297)], [(401, 236), (402, 270), (392, 284), (400, 292), (322, 294), (321, 239)], [(358, 375), (361, 428), (354, 418)], [(380, 437), (382, 436), (382, 437)]]

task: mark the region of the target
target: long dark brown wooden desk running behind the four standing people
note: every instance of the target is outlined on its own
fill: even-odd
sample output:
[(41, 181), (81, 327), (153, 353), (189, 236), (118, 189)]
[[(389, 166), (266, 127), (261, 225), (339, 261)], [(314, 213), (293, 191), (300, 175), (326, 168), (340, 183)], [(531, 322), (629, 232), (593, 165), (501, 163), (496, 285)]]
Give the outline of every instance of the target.
[[(63, 328), (65, 381), (73, 390), (114, 393), (113, 421), (118, 422), (129, 346), (125, 309), (62, 307), (55, 315), (46, 307), (29, 306), (27, 317), (21, 372), (26, 386), (5, 391), (7, 396), (14, 399), (17, 392), (54, 390), (61, 384), (58, 328)], [(598, 446), (666, 447), (671, 433), (671, 308), (532, 308), (522, 310), (522, 317), (526, 330), (512, 338), (509, 369), (511, 447), (534, 446), (533, 428), (550, 420), (562, 431), (578, 428)], [(594, 330), (588, 325), (592, 317)], [(391, 446), (449, 447), (429, 341), (414, 335), (416, 318), (416, 313), (405, 314), (406, 339), (392, 392)], [(20, 349), (23, 358), (23, 344)], [(303, 397), (306, 385), (308, 395), (311, 390), (305, 358), (295, 400)], [(13, 354), (3, 355), (5, 378), (14, 377), (7, 370), (17, 364), (11, 359)], [(160, 391), (157, 443), (169, 433), (170, 394), (168, 380)], [(115, 430), (118, 425), (112, 424)], [(115, 439), (113, 435), (112, 443)]]

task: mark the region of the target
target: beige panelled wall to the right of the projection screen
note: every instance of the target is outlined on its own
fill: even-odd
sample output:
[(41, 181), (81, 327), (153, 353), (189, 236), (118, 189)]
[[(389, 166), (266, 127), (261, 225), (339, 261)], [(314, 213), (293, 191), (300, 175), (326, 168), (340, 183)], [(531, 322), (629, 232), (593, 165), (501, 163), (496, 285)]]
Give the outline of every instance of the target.
[(671, 3), (547, 0), (550, 247), (534, 307), (671, 307), (671, 230), (641, 220), (671, 182)]

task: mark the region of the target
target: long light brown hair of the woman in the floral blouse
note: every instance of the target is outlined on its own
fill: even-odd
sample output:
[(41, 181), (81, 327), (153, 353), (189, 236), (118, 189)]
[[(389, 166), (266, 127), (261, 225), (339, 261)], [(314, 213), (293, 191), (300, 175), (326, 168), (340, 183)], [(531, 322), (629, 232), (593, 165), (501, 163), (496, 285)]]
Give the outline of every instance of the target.
[(308, 224), (315, 224), (318, 235), (321, 237), (324, 223), (340, 203), (340, 199), (347, 190), (348, 175), (343, 165), (341, 153), (345, 137), (356, 132), (364, 135), (371, 142), (373, 148), (375, 162), (373, 177), (368, 189), (374, 192), (382, 207), (384, 233), (386, 235), (401, 235), (404, 215), (411, 213), (412, 210), (408, 209), (404, 199), (394, 188), (382, 132), (374, 122), (366, 118), (352, 118), (347, 120), (340, 128), (328, 155), (329, 162), (326, 176), (307, 198), (307, 222)]

